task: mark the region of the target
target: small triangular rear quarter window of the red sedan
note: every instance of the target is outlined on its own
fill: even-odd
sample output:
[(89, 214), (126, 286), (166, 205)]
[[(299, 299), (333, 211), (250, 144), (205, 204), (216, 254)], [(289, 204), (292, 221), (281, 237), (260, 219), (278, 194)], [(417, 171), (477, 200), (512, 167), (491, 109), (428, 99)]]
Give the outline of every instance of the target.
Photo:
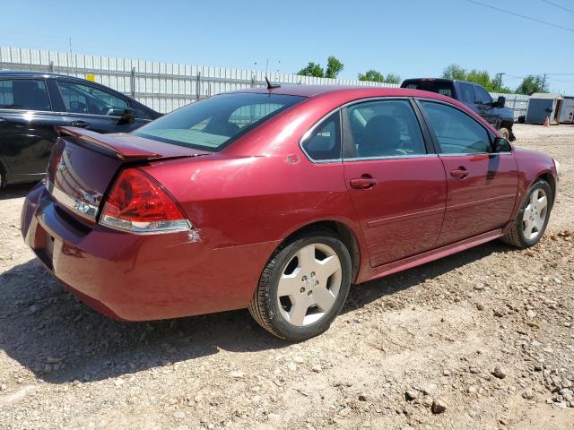
[(310, 159), (316, 161), (341, 159), (341, 122), (339, 112), (326, 118), (302, 142)]

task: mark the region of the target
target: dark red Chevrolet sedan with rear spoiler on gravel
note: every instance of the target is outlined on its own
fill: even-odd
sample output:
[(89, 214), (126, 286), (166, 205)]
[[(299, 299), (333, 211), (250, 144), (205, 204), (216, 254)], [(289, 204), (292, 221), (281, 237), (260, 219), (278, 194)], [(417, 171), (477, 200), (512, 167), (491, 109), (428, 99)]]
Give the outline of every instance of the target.
[(59, 133), (22, 234), (66, 288), (129, 321), (248, 307), (286, 340), (326, 331), (352, 283), (535, 245), (558, 185), (551, 157), (419, 90), (271, 86)]

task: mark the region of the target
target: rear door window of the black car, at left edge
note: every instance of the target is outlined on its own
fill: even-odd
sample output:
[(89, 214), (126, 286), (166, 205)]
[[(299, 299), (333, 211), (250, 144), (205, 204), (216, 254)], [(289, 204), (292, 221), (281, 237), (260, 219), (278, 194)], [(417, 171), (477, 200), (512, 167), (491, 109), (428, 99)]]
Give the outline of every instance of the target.
[(0, 81), (0, 108), (51, 110), (46, 82), (41, 79)]

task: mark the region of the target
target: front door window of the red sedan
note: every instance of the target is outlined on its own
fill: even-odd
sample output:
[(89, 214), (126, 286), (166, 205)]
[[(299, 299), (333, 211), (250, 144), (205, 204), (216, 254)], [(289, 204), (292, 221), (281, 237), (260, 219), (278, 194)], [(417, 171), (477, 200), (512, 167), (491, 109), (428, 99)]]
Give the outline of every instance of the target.
[(470, 116), (455, 107), (422, 101), (431, 127), (444, 154), (491, 152), (489, 133)]

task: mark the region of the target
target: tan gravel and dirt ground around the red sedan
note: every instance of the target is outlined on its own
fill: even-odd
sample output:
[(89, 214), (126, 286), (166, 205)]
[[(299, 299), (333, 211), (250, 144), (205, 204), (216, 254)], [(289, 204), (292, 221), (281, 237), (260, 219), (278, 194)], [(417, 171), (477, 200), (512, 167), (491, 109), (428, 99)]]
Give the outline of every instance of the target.
[(236, 311), (117, 323), (62, 290), (0, 193), (0, 427), (574, 428), (574, 126), (516, 125), (561, 162), (544, 239), (352, 288), (326, 334)]

